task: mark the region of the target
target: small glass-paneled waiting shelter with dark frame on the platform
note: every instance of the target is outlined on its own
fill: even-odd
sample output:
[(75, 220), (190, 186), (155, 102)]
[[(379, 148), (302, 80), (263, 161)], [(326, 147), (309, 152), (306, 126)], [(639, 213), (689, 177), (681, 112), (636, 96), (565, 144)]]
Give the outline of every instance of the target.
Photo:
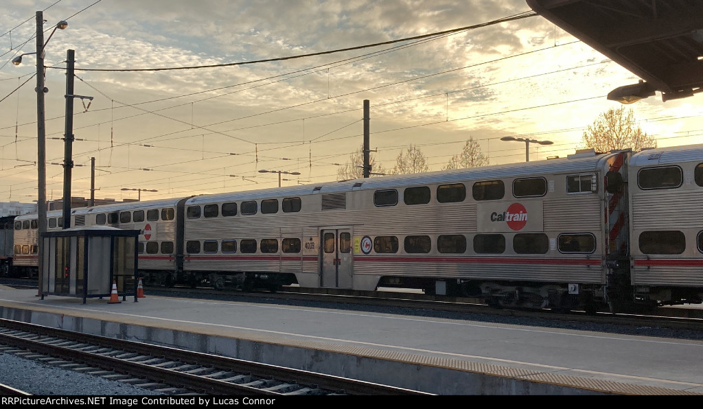
[(41, 297), (110, 297), (112, 283), (122, 301), (137, 301), (138, 230), (109, 226), (67, 228), (46, 232)]

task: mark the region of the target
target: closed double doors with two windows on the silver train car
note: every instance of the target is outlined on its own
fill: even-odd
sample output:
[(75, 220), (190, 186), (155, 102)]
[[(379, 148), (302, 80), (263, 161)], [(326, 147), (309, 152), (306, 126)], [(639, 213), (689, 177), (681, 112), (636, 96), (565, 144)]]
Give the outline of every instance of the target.
[(352, 230), (349, 228), (321, 231), (321, 287), (352, 287)]

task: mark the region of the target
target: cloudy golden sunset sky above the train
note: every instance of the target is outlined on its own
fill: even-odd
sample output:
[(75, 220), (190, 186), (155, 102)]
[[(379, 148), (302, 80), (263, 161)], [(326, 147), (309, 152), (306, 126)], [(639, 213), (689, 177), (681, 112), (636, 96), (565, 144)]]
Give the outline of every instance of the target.
[[(530, 160), (563, 157), (620, 108), (607, 93), (638, 81), (539, 16), (369, 46), (520, 15), (524, 0), (3, 1), (1, 202), (37, 199), (36, 58), (11, 63), (36, 51), (37, 11), (45, 39), (69, 24), (45, 49), (48, 200), (63, 195), (67, 49), (75, 95), (93, 97), (74, 101), (72, 195), (90, 196), (95, 157), (96, 197), (116, 200), (138, 195), (121, 188), (157, 190), (150, 200), (278, 186), (261, 169), (300, 173), (283, 186), (335, 181), (363, 142), (363, 100), (385, 169), (413, 144), (439, 170), (469, 137), (491, 164), (524, 161), (524, 143), (503, 136), (554, 142)], [(344, 48), (356, 49), (331, 52)], [(233, 63), (247, 64), (195, 68)], [(166, 68), (181, 69), (146, 70)], [(702, 98), (627, 108), (660, 147), (686, 145), (703, 140)]]

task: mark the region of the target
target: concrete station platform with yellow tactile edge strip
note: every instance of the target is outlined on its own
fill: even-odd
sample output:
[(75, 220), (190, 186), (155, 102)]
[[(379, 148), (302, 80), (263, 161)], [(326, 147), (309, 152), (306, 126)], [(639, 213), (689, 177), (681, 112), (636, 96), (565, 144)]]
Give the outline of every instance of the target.
[[(0, 317), (439, 395), (699, 395), (703, 342), (261, 301), (37, 297)], [(120, 299), (122, 299), (120, 297)]]

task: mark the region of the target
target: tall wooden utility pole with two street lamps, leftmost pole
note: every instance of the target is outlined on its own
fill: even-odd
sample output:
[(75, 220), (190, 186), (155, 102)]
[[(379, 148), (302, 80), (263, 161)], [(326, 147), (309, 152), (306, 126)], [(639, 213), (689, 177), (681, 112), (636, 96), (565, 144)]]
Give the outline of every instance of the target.
[(37, 176), (39, 192), (37, 193), (37, 226), (39, 242), (37, 243), (37, 267), (39, 273), (39, 294), (44, 299), (44, 287), (41, 285), (44, 273), (44, 233), (46, 233), (46, 129), (44, 128), (44, 13), (37, 11)]

